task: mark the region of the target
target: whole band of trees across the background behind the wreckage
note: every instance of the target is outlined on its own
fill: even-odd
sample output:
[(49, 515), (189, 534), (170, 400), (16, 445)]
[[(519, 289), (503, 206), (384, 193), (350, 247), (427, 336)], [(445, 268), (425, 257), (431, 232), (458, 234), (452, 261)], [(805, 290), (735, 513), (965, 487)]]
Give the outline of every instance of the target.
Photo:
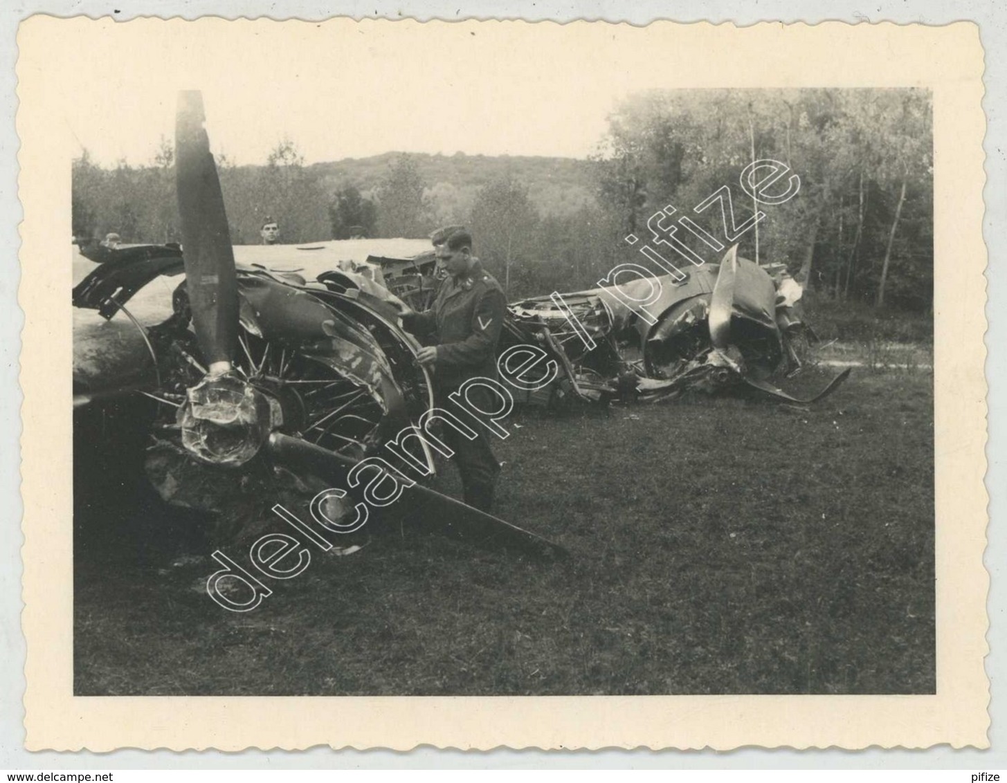
[[(742, 236), (741, 255), (786, 264), (823, 296), (927, 311), (930, 117), (929, 93), (913, 89), (637, 94), (610, 115), (582, 162), (589, 197), (560, 211), (537, 203), (527, 178), (506, 167), (461, 197), (464, 183), (428, 181), (410, 155), (391, 158), (377, 184), (333, 182), (305, 166), (289, 139), (265, 165), (239, 166), (227, 156), (218, 165), (235, 244), (258, 243), (267, 217), (280, 222), (284, 242), (297, 244), (422, 238), (441, 224), (465, 224), (476, 255), (515, 299), (592, 287), (615, 265), (639, 263), (624, 238), (648, 239), (648, 218), (669, 205), (716, 234), (717, 210), (694, 209), (724, 185), (742, 223), (753, 204), (739, 174), (769, 158), (800, 176), (801, 190), (760, 207), (766, 217)], [(84, 152), (74, 161), (73, 220), (79, 237), (179, 241), (170, 143), (162, 139), (142, 166), (102, 167)]]

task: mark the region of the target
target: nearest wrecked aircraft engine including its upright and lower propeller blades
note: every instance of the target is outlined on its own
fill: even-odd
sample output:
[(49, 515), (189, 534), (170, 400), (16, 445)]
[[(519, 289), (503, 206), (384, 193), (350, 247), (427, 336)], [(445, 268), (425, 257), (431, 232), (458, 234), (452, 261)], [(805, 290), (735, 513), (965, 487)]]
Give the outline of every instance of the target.
[[(391, 478), (395, 497), (404, 489), (410, 501), (391, 504), (390, 514), (418, 514), (425, 527), (475, 542), (563, 555), (408, 479), (407, 461), (395, 464), (389, 450), (379, 456), (433, 411), (419, 345), (398, 325), (401, 301), (365, 275), (330, 271), (308, 282), (239, 267), (203, 122), (200, 94), (180, 94), (184, 254), (177, 246), (101, 249), (98, 268), (74, 289), (75, 433), (88, 430), (89, 416), (104, 422), (117, 404), (143, 396), (156, 403), (146, 473), (169, 503), (234, 513), (250, 498), (257, 505), (296, 486), (323, 494), (328, 529), (345, 532), (354, 516), (366, 518), (369, 496), (387, 505), (378, 495)], [(168, 282), (178, 276), (180, 285)], [(114, 318), (119, 312), (125, 318)], [(411, 461), (432, 474), (427, 444), (415, 440), (421, 449)], [(326, 489), (342, 486), (352, 491)]]

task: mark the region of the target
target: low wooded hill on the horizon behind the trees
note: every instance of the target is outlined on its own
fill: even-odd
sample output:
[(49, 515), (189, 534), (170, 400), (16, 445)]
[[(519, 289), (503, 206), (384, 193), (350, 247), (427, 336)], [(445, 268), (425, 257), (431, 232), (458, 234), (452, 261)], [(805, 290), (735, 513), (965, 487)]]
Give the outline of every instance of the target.
[[(309, 168), (318, 175), (326, 193), (347, 184), (362, 192), (375, 190), (391, 165), (402, 155), (386, 152), (369, 158), (315, 163)], [(529, 195), (542, 214), (571, 214), (585, 204), (593, 204), (595, 184), (593, 164), (574, 158), (528, 156), (430, 155), (409, 153), (420, 176), (426, 181), (434, 207), (445, 219), (464, 219), (475, 192), (487, 182), (511, 174), (527, 185)]]

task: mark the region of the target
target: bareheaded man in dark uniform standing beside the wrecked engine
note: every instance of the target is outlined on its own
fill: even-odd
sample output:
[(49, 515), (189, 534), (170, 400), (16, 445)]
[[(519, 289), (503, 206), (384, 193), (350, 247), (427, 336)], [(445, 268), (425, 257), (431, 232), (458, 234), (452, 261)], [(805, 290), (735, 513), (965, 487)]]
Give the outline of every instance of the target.
[[(448, 278), (438, 289), (429, 310), (417, 313), (407, 309), (402, 314), (402, 323), (418, 336), (435, 335), (436, 344), (421, 348), (418, 358), (432, 371), (437, 406), (448, 409), (448, 395), (465, 380), (496, 378), (496, 342), (503, 326), (507, 301), (496, 280), (472, 256), (472, 238), (468, 231), (461, 226), (450, 226), (435, 232), (431, 239), (438, 266), (446, 270)], [(487, 399), (480, 400), (480, 394)], [(477, 407), (490, 410), (492, 403), (488, 397), (487, 389), (475, 386), (469, 399)], [(484, 428), (474, 429), (477, 433), (474, 441), (450, 427), (446, 428), (444, 440), (454, 452), (465, 502), (488, 511), (500, 468)]]

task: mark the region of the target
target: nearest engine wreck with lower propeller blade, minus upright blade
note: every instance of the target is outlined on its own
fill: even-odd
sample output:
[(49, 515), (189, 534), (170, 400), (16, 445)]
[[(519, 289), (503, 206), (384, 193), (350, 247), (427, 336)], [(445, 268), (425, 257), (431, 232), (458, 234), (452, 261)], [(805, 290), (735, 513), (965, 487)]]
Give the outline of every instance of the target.
[[(339, 263), (371, 244), (236, 248), (246, 257), (235, 266), (238, 345), (222, 373), (207, 372), (179, 248), (110, 251), (97, 268), (79, 254), (74, 466), (82, 491), (75, 502), (87, 507), (90, 496), (105, 503), (144, 480), (171, 505), (220, 512), (218, 533), (231, 535), (234, 525), (261, 516), (264, 504), (295, 507), (319, 497), (334, 525), (327, 529), (345, 531), (336, 528), (371, 498), (386, 522), (409, 518), (480, 545), (563, 557), (552, 541), (424, 486), (435, 473), (425, 439), (388, 448), (422, 424), (433, 396), (417, 360), (419, 343), (399, 325), (402, 301), (380, 275)], [(315, 280), (275, 268), (291, 262), (298, 272), (313, 267)], [(378, 475), (354, 480), (363, 466), (379, 467)], [(392, 473), (409, 500), (389, 505), (372, 488)], [(332, 487), (346, 489), (333, 494)]]

